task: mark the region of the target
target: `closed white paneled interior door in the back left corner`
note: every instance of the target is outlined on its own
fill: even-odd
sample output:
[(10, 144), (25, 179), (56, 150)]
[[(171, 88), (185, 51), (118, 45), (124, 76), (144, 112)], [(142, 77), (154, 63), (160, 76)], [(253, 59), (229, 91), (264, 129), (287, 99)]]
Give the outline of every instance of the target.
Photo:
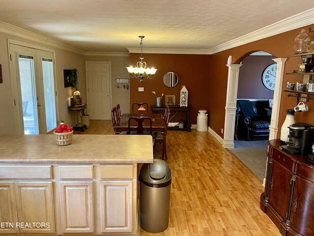
[(90, 119), (110, 119), (110, 62), (87, 62), (87, 93)]

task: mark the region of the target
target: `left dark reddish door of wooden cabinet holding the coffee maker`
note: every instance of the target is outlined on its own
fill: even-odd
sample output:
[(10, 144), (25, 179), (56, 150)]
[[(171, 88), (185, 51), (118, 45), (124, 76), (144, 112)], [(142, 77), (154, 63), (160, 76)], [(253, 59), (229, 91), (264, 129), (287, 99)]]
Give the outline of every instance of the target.
[(276, 209), (282, 219), (286, 220), (289, 206), (289, 197), (291, 194), (292, 174), (273, 160), (271, 167), (271, 175), (269, 179), (269, 204)]

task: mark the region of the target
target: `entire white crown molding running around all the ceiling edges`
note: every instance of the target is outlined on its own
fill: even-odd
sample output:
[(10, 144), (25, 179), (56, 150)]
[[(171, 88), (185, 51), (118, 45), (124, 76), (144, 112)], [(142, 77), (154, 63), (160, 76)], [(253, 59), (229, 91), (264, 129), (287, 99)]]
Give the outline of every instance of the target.
[[(234, 47), (238, 47), (247, 43), (251, 43), (263, 38), (274, 36), (279, 33), (287, 32), (292, 29), (298, 29), (304, 26), (312, 25), (314, 23), (314, 8), (291, 16), (287, 19), (274, 23), (270, 26), (258, 29), (254, 32), (248, 33), (234, 40), (228, 41), (210, 49), (167, 49), (167, 48), (145, 48), (143, 51), (150, 54), (194, 54), (194, 55), (211, 55), (219, 53)], [(70, 51), (85, 56), (114, 56), (114, 57), (128, 57), (129, 53), (141, 53), (140, 48), (127, 48), (129, 53), (116, 52), (85, 52), (84, 50), (62, 43), (52, 38), (33, 33), (26, 29), (22, 29), (5, 22), (0, 21), (0, 32), (18, 36), (30, 41), (50, 45), (59, 49)]]

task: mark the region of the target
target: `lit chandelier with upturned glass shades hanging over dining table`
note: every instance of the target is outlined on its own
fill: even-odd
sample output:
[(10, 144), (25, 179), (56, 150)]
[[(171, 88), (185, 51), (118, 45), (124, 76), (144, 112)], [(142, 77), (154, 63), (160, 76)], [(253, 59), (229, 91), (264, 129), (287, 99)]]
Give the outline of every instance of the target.
[(146, 68), (147, 64), (145, 61), (143, 61), (143, 38), (145, 36), (138, 36), (141, 39), (140, 45), (141, 45), (141, 59), (140, 61), (137, 61), (136, 67), (133, 68), (132, 66), (127, 66), (128, 72), (131, 76), (131, 78), (139, 78), (139, 82), (143, 82), (144, 78), (152, 79), (155, 75), (157, 69), (154, 68)]

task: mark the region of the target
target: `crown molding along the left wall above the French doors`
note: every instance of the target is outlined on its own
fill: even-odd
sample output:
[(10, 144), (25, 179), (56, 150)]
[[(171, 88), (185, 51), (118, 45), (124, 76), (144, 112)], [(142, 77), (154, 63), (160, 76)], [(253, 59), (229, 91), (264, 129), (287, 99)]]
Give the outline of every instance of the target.
[(66, 51), (70, 51), (73, 53), (81, 54), (81, 55), (84, 55), (84, 53), (85, 53), (85, 51), (80, 49), (80, 48), (73, 47), (69, 44), (62, 43), (62, 42), (54, 40), (52, 38), (49, 38), (49, 37), (40, 35), (38, 33), (34, 33), (31, 31), (28, 31), (26, 29), (22, 29), (22, 28), (7, 24), (7, 23), (2, 22), (2, 21), (0, 21), (0, 32), (14, 35), (17, 37), (21, 37), (21, 38), (24, 38), (24, 39), (27, 39), (27, 40), (30, 40), (33, 42), (42, 43), (45, 45), (49, 45), (52, 47), (63, 49)]

